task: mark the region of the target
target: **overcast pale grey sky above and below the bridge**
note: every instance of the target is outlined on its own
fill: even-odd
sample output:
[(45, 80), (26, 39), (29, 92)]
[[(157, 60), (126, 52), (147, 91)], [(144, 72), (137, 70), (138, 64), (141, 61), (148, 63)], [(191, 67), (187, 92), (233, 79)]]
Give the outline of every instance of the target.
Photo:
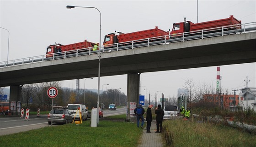
[[(91, 6), (101, 11), (101, 41), (115, 30), (129, 33), (139, 30), (169, 30), (184, 17), (197, 22), (197, 0), (0, 0), (0, 27), (10, 31), (9, 60), (46, 53), (55, 42), (68, 45), (87, 39), (99, 42), (99, 12), (95, 9), (66, 9), (66, 5)], [(242, 23), (256, 21), (256, 0), (198, 0), (198, 22), (218, 20), (234, 15)], [(0, 29), (0, 61), (7, 61), (8, 31)], [(101, 42), (102, 43), (102, 42)], [(215, 86), (217, 67), (142, 73), (141, 94), (177, 96), (184, 79), (196, 84)], [(224, 89), (256, 87), (256, 63), (220, 66)], [(80, 88), (97, 89), (97, 77), (80, 80)], [(63, 81), (75, 88), (76, 80)], [(127, 76), (101, 77), (100, 88), (121, 88), (127, 94)], [(144, 87), (146, 86), (146, 87)]]

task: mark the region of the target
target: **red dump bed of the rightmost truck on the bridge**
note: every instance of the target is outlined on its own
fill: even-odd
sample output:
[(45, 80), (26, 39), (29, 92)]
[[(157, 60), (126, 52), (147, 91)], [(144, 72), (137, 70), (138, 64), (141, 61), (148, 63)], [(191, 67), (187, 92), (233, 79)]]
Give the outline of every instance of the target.
[[(241, 21), (235, 19), (233, 15), (230, 15), (230, 17), (226, 19), (191, 24), (190, 31), (204, 30), (204, 29), (210, 29), (210, 28), (216, 28), (216, 27), (228, 26), (228, 25), (236, 25), (236, 24), (241, 24)], [(241, 29), (241, 26), (238, 25), (237, 27), (234, 27), (231, 30), (235, 30), (235, 29)]]

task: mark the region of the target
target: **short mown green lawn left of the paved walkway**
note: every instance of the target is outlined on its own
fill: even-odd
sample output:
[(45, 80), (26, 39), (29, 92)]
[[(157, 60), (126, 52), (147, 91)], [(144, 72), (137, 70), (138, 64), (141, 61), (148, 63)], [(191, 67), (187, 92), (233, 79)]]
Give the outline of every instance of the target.
[(4, 135), (0, 142), (5, 147), (136, 147), (142, 130), (134, 123), (124, 122), (125, 115), (111, 119), (115, 121), (100, 119), (98, 127), (90, 127), (90, 121), (84, 121)]

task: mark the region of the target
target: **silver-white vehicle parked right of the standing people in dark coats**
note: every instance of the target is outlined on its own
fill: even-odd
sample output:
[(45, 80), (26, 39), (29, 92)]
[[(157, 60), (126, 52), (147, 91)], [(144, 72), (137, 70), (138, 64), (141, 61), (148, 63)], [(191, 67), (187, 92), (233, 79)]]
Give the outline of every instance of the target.
[(179, 117), (179, 109), (176, 105), (165, 105), (164, 119), (176, 119)]

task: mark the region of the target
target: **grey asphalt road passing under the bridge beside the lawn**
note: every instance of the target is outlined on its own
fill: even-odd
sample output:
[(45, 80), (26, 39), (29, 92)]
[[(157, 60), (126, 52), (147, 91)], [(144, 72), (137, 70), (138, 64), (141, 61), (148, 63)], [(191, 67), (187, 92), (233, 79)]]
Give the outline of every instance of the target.
[[(116, 111), (104, 110), (103, 117), (125, 114), (126, 111), (126, 107), (118, 108)], [(47, 115), (40, 115), (39, 117), (37, 117), (37, 115), (30, 115), (28, 120), (25, 119), (25, 116), (23, 118), (9, 116), (0, 117), (0, 136), (29, 131), (41, 127), (51, 127), (51, 125), (48, 125)]]

